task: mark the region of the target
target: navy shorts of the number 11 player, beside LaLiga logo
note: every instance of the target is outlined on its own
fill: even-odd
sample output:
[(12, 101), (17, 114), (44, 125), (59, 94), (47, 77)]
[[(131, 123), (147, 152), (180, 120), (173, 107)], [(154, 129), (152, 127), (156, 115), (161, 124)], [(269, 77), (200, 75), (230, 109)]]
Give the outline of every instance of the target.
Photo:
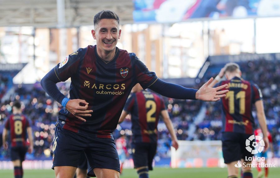
[(245, 157), (252, 157), (254, 154), (247, 151), (246, 139), (252, 134), (243, 134), (237, 132), (223, 132), (222, 133), (222, 150), (224, 162), (231, 163)]

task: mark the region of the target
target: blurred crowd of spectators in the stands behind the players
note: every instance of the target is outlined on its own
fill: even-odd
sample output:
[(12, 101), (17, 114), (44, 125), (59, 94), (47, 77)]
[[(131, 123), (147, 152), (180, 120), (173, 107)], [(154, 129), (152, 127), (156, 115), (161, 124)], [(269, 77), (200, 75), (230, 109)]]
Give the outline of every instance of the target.
[[(280, 146), (280, 61), (258, 60), (240, 63), (242, 77), (252, 81), (260, 87), (263, 93), (264, 109), (268, 119), (268, 129), (273, 136), (275, 155), (280, 156), (278, 147)], [(213, 69), (215, 66), (213, 67)], [(217, 66), (216, 68), (217, 69)], [(194, 88), (199, 88), (210, 77), (215, 77), (219, 71), (211, 70), (211, 65), (205, 73), (205, 78)], [(7, 78), (0, 74), (1, 94), (5, 90)], [(61, 83), (59, 86), (64, 95), (67, 95), (67, 84)], [(8, 88), (6, 88), (8, 90)], [(5, 90), (5, 91), (6, 91)], [(3, 93), (4, 95), (4, 93)], [(0, 99), (2, 99), (1, 95)], [(175, 127), (178, 140), (220, 140), (222, 127), (222, 110), (219, 102), (201, 102), (198, 100), (176, 100), (164, 97), (166, 109)], [(9, 100), (1, 102), (0, 105), (0, 134), (6, 117), (11, 113), (12, 102), (21, 100), (24, 105), (24, 114), (30, 119), (34, 132), (34, 152), (27, 154), (27, 159), (51, 159), (52, 140), (54, 138), (54, 128), (57, 121), (58, 111), (62, 108), (60, 104), (45, 94), (39, 83), (32, 85), (18, 85)], [(194, 134), (189, 134), (189, 127), (194, 124), (198, 113), (202, 107), (206, 107), (204, 119), (195, 126)], [(256, 115), (255, 113), (253, 114)], [(131, 153), (131, 122), (126, 119), (118, 125), (114, 131), (115, 139), (121, 134), (127, 138), (128, 152)], [(158, 151), (156, 158), (170, 158), (170, 137), (165, 124), (160, 121), (158, 124)], [(1, 137), (2, 139), (2, 137)], [(0, 142), (2, 144), (2, 140)], [(0, 147), (0, 160), (9, 158), (9, 152)]]

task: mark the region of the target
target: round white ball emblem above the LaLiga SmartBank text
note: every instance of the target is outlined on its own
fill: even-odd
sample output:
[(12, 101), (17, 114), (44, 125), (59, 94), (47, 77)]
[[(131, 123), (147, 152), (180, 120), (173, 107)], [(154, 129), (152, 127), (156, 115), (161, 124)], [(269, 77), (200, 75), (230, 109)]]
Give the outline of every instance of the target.
[[(256, 139), (256, 141), (254, 141), (254, 139)], [(247, 151), (251, 152), (251, 154), (257, 154), (264, 150), (264, 140), (261, 136), (251, 135), (246, 139), (245, 144)]]

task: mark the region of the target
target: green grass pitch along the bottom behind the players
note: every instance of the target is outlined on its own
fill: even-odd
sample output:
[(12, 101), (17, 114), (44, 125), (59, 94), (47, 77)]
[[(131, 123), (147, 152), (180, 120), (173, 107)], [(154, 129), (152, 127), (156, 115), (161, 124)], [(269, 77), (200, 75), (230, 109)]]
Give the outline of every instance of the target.
[[(226, 178), (226, 168), (155, 168), (149, 172), (150, 178)], [(253, 168), (253, 175), (258, 173)], [(269, 178), (279, 178), (280, 168), (269, 168)], [(13, 170), (0, 170), (1, 178), (13, 178)], [(24, 178), (54, 178), (54, 170), (24, 170)], [(138, 178), (134, 169), (124, 169), (120, 178)]]

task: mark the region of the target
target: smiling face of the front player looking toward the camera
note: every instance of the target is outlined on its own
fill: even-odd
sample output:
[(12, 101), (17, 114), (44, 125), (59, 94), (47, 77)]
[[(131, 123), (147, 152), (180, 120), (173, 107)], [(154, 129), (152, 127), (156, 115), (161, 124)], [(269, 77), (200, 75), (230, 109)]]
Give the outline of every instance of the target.
[(102, 19), (95, 30), (91, 30), (91, 33), (93, 38), (96, 39), (97, 49), (108, 53), (114, 52), (121, 30), (117, 20)]

